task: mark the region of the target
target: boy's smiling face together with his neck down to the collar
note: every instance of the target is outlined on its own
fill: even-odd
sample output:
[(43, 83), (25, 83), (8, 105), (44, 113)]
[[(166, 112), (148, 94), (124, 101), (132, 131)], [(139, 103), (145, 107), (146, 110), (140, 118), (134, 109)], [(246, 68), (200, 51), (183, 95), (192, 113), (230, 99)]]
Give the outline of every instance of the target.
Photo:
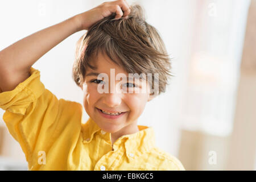
[[(126, 73), (124, 69), (118, 67), (118, 65), (114, 64), (108, 56), (102, 55), (102, 53), (99, 53), (98, 59), (93, 60), (97, 65), (97, 72), (106, 73), (109, 78), (111, 75), (111, 69), (114, 69), (117, 75), (119, 73)], [(142, 114), (146, 102), (150, 100), (149, 93), (129, 93), (130, 90), (134, 92), (135, 89), (139, 89), (139, 83), (135, 83), (133, 81), (127, 82), (126, 80), (123, 80), (125, 83), (121, 83), (123, 85), (122, 88), (120, 88), (122, 90), (119, 90), (119, 93), (117, 90), (119, 87), (114, 85), (113, 88), (115, 88), (115, 92), (101, 94), (98, 92), (98, 84), (95, 82), (97, 80), (97, 76), (90, 75), (92, 72), (94, 71), (89, 69), (88, 74), (86, 74), (89, 76), (85, 77), (85, 82), (83, 84), (83, 103), (86, 113), (88, 113), (90, 118), (92, 118), (102, 130), (111, 133), (112, 143), (123, 135), (138, 132), (139, 129), (137, 126), (137, 120)], [(127, 78), (128, 77), (129, 76), (127, 74)], [(113, 85), (114, 82), (116, 81), (112, 81), (111, 85)], [(142, 84), (145, 84), (145, 81), (143, 81)], [(122, 93), (123, 90), (127, 91), (127, 93)], [(109, 114), (104, 114), (102, 112), (109, 114), (121, 114), (109, 116)]]

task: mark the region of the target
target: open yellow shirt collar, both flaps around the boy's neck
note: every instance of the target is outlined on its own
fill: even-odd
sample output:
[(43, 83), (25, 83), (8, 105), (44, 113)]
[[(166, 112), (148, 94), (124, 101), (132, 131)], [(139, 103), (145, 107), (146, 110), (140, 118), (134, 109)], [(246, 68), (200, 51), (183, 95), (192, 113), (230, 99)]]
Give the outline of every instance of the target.
[[(152, 127), (138, 125), (139, 131), (134, 134), (123, 135), (117, 140), (117, 143), (125, 143), (125, 152), (129, 160), (138, 158), (144, 152), (150, 151), (155, 146), (155, 133)], [(89, 143), (94, 134), (100, 131), (100, 127), (89, 118), (88, 121), (82, 125), (83, 143)]]

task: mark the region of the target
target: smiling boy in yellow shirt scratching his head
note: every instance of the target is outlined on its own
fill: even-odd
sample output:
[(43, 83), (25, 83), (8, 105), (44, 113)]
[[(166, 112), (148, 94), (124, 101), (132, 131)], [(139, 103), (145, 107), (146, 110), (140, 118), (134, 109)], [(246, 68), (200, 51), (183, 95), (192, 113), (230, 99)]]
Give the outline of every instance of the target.
[[(84, 92), (85, 124), (82, 106), (58, 100), (31, 67), (80, 30), (88, 32), (77, 44), (73, 79)], [(164, 92), (169, 68), (162, 39), (141, 7), (105, 2), (0, 52), (3, 120), (30, 170), (184, 170), (155, 146), (151, 127), (137, 126), (146, 102)], [(113, 82), (113, 73), (121, 81), (114, 76)], [(144, 75), (134, 81), (130, 73)], [(145, 73), (156, 73), (154, 81)]]

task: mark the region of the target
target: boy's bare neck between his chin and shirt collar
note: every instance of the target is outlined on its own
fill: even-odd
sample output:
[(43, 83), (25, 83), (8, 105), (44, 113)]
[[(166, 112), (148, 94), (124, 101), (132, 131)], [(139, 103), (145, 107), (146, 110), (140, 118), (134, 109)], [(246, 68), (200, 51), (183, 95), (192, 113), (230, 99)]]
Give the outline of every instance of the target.
[(139, 129), (138, 129), (138, 126), (137, 126), (137, 122), (134, 122), (133, 124), (125, 126), (121, 130), (119, 130), (115, 133), (111, 133), (112, 145), (115, 142), (115, 140), (122, 137), (123, 135), (134, 134), (138, 131), (139, 131)]

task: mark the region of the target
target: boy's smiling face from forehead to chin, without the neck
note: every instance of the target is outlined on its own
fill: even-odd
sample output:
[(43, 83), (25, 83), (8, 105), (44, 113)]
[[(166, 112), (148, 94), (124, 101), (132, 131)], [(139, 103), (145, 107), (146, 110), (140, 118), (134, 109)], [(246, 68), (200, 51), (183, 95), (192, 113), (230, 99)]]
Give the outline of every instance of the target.
[[(132, 132), (132, 128), (137, 126), (137, 119), (142, 114), (147, 101), (150, 101), (150, 88), (146, 80), (115, 80), (118, 73), (124, 73), (127, 77), (128, 73), (121, 67), (113, 63), (105, 53), (99, 53), (98, 57), (94, 57), (93, 65), (97, 66), (96, 70), (88, 68), (86, 70), (85, 82), (82, 86), (84, 92), (84, 107), (89, 117), (97, 123), (97, 125), (104, 131), (109, 133), (121, 132), (126, 130)], [(110, 77), (110, 69), (112, 69), (112, 77)], [(114, 78), (113, 78), (114, 69)], [(105, 73), (108, 75), (108, 80), (104, 78), (97, 79), (97, 75), (88, 75), (90, 73)], [(105, 85), (104, 85), (105, 84)], [(118, 85), (118, 86), (117, 86)], [(134, 87), (135, 85), (135, 87)], [(109, 92), (98, 92), (98, 86), (102, 88), (108, 86)], [(115, 90), (110, 92), (110, 86)], [(138, 92), (142, 86), (146, 86), (146, 92)], [(123, 92), (126, 90), (126, 93)], [(130, 91), (129, 91), (130, 90)], [(135, 90), (137, 92), (135, 93)], [(133, 92), (131, 92), (133, 91)], [(115, 112), (123, 112), (115, 118), (112, 115), (104, 114), (101, 110)]]

